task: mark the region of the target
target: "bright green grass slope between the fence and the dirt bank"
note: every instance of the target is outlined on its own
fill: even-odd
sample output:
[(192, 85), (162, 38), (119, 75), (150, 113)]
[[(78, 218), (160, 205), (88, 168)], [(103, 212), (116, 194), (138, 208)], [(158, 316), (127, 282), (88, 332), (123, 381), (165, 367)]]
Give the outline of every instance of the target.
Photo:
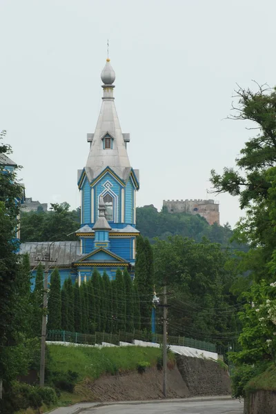
[(89, 348), (84, 346), (50, 345), (51, 371), (75, 371), (81, 379), (95, 380), (103, 373), (115, 374), (135, 370), (140, 362), (156, 365), (159, 348), (126, 346), (112, 348)]

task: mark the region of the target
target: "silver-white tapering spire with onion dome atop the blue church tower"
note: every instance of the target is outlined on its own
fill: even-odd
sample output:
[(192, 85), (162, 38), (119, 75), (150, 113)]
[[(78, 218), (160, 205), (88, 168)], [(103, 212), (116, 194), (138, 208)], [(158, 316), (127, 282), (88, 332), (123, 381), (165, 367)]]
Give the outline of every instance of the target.
[[(112, 83), (115, 81), (115, 72), (110, 65), (110, 59), (106, 59), (106, 66), (101, 72), (101, 80), (104, 83), (102, 86), (103, 102), (86, 167), (92, 169), (94, 178), (106, 167), (110, 167), (121, 179), (124, 179), (124, 172), (126, 168), (130, 168), (130, 162), (114, 103), (113, 89), (115, 86)], [(103, 143), (106, 135), (111, 138), (111, 148), (108, 149), (104, 149)]]

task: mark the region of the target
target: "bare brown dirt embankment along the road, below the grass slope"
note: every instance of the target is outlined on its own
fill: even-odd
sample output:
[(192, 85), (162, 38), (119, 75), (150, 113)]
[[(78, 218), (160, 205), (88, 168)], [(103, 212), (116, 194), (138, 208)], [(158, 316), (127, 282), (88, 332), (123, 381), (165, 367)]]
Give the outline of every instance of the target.
[[(163, 373), (157, 368), (103, 375), (95, 382), (85, 380), (75, 392), (85, 400), (124, 401), (157, 400), (164, 398)], [(177, 356), (177, 365), (168, 369), (168, 398), (197, 395), (230, 395), (230, 378), (217, 362)]]

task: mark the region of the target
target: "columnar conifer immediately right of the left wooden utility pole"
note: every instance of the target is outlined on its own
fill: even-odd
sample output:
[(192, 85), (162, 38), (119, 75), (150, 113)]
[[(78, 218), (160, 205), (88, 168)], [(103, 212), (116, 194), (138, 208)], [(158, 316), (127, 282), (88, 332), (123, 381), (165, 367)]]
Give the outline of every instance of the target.
[(58, 268), (51, 273), (48, 296), (48, 329), (61, 329), (61, 280)]

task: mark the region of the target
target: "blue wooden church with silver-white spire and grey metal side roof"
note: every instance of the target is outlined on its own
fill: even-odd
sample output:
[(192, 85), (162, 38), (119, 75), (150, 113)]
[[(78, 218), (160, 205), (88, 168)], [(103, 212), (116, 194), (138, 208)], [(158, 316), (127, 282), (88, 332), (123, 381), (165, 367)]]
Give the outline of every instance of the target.
[(115, 108), (115, 71), (110, 59), (101, 72), (103, 97), (94, 133), (87, 134), (90, 146), (86, 166), (77, 172), (81, 194), (81, 227), (73, 242), (27, 242), (20, 253), (28, 253), (35, 275), (38, 261), (50, 257), (50, 269), (59, 268), (61, 283), (68, 277), (86, 281), (92, 270), (106, 270), (115, 279), (117, 268), (135, 271), (136, 192), (139, 170), (130, 166), (127, 145)]

